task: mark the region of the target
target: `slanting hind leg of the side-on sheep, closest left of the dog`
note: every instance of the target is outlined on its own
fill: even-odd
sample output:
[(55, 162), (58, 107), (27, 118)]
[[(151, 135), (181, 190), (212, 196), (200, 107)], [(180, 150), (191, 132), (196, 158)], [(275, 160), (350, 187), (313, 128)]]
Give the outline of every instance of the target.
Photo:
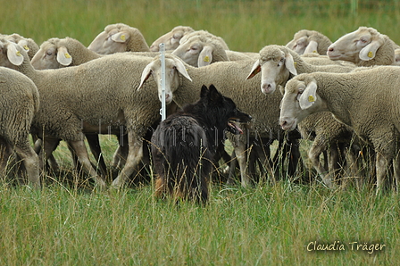
[(122, 168), (120, 174), (112, 182), (112, 187), (119, 188), (125, 184), (126, 179), (133, 173), (138, 163), (143, 157), (143, 141), (136, 140), (132, 137), (132, 134), (128, 134), (129, 139), (129, 153), (127, 157), (127, 162)]

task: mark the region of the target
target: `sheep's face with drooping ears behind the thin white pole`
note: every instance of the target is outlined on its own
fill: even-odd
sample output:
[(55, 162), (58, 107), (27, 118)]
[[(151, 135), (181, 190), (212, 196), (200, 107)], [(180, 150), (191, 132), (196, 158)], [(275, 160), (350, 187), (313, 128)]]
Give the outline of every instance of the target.
[[(187, 74), (186, 67), (178, 58), (172, 56), (166, 56), (165, 58), (165, 103), (171, 104), (173, 99), (173, 93), (179, 88), (179, 73), (186, 79), (190, 79)], [(146, 65), (146, 68), (142, 72), (142, 78), (140, 80), (140, 87), (146, 82), (146, 80), (153, 76), (155, 80), (162, 80), (162, 68), (160, 56), (156, 56), (152, 62)], [(158, 87), (158, 97), (162, 101), (162, 84), (156, 82)]]

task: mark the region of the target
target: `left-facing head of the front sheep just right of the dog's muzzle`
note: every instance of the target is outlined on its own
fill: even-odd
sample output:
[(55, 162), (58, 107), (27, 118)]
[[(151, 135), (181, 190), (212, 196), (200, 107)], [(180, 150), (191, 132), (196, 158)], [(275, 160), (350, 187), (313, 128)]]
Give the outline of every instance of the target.
[[(319, 96), (317, 96), (317, 82), (315, 79), (291, 79), (285, 87), (285, 94), (280, 103), (279, 124), (284, 130), (296, 129), (297, 124), (305, 117), (317, 112), (313, 106)], [(318, 104), (316, 104), (318, 105)]]

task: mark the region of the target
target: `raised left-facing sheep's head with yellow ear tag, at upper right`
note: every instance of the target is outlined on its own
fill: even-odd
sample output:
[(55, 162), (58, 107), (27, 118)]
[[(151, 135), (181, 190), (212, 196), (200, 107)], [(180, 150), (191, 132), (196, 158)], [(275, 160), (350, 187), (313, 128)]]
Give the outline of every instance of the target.
[(338, 38), (328, 47), (327, 54), (331, 60), (369, 61), (383, 43), (384, 38), (376, 29), (360, 27)]

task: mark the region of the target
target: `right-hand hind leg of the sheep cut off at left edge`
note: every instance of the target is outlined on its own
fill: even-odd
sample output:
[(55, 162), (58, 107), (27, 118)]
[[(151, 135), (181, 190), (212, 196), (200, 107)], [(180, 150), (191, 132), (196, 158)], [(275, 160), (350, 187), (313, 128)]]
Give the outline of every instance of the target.
[(32, 187), (40, 187), (39, 178), (39, 160), (33, 148), (29, 145), (29, 141), (15, 145), (14, 151), (21, 157), (27, 177)]

